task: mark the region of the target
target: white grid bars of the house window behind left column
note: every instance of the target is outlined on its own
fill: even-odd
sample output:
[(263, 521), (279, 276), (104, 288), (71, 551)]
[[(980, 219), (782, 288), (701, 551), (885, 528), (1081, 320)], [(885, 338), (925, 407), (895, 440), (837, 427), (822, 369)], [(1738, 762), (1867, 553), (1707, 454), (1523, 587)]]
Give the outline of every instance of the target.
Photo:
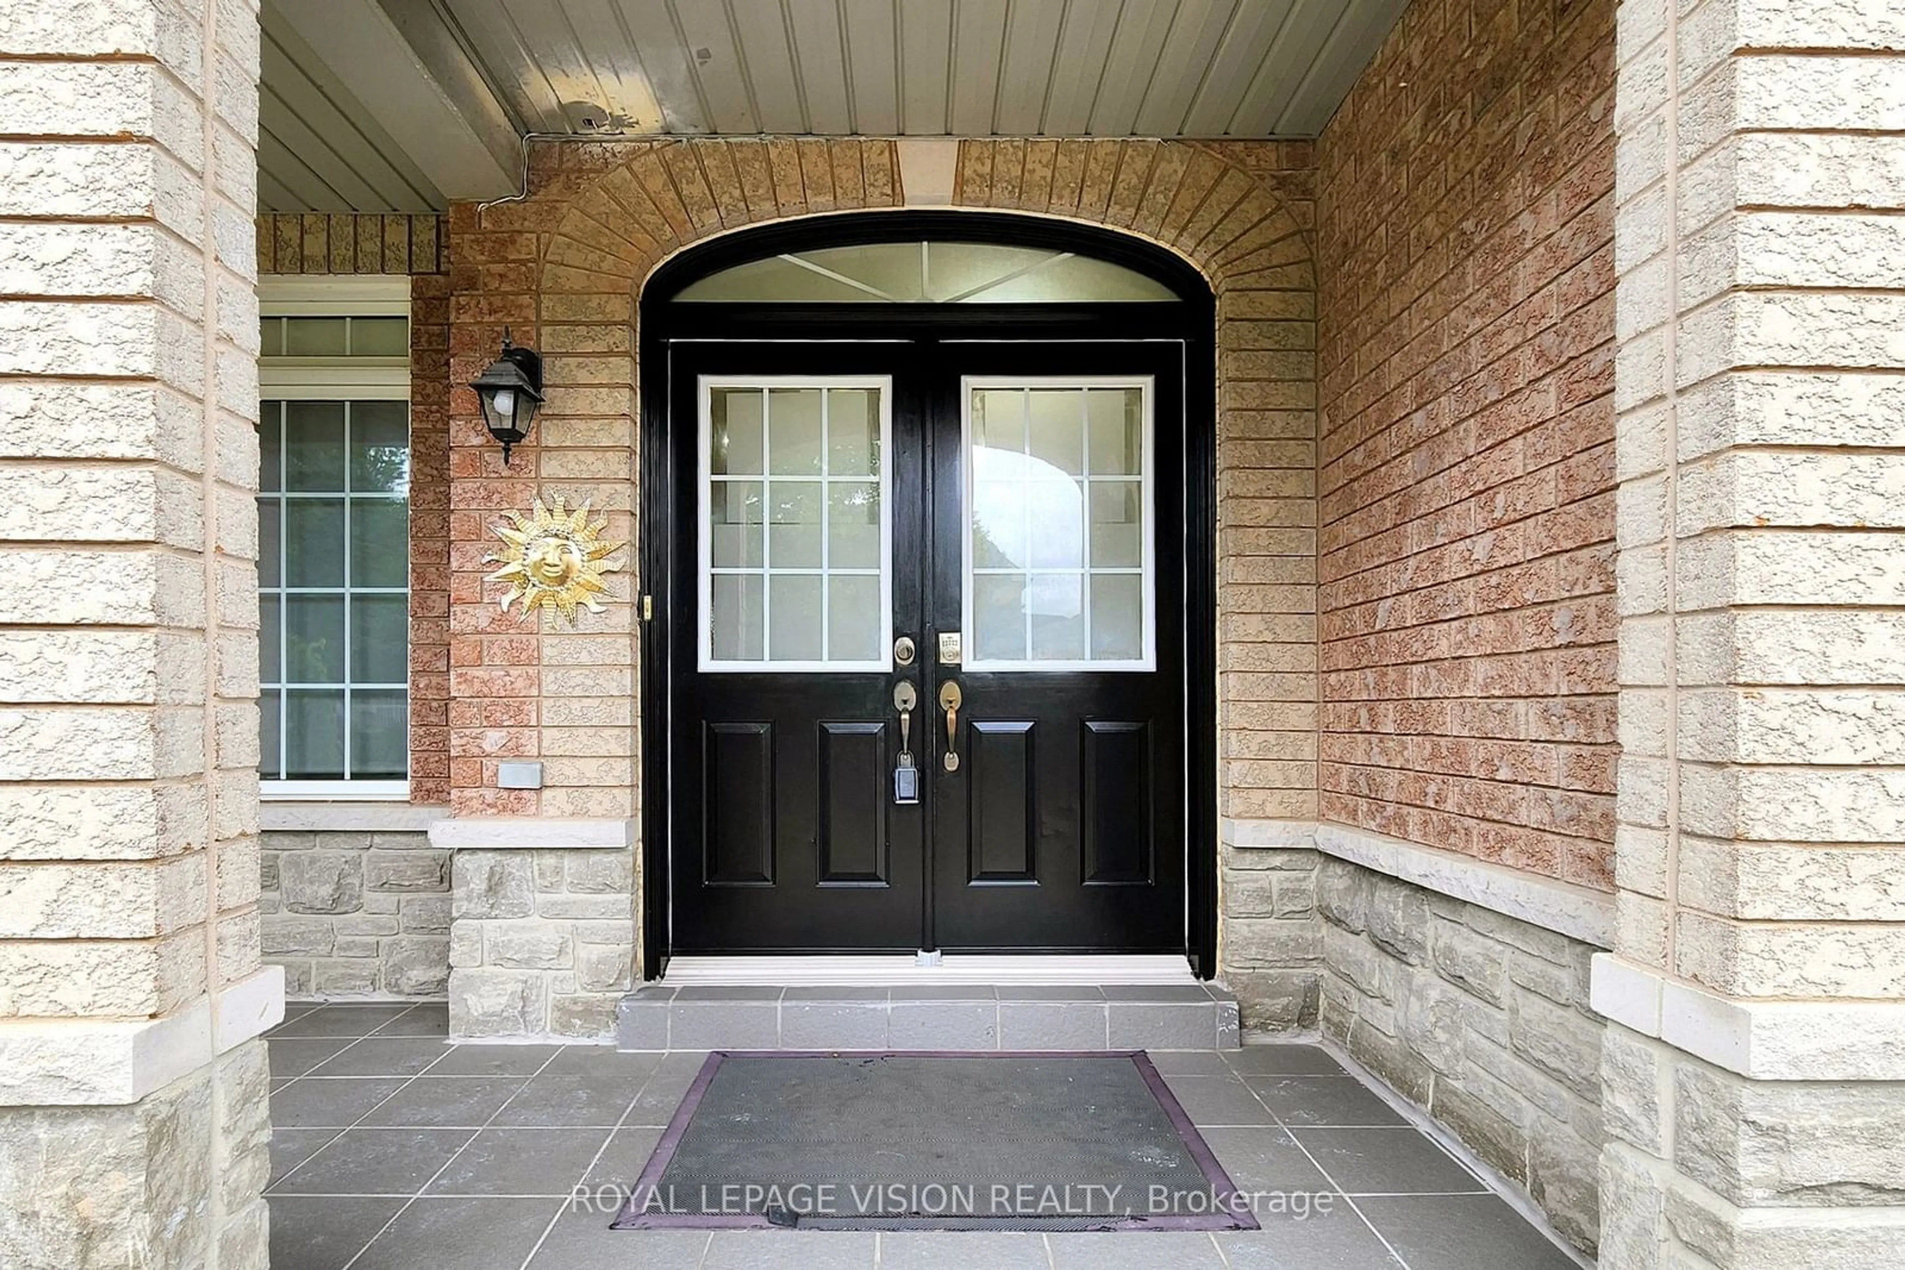
[[(286, 438), (286, 421), (288, 421), (290, 406), (291, 406), (293, 400), (335, 402), (337, 406), (343, 407), (343, 430), (341, 430), (341, 451), (339, 451), (341, 480), (337, 482), (341, 486), (339, 489), (288, 489), (286, 487), (290, 484), (290, 453), (291, 453), (288, 438)], [(375, 402), (379, 406), (387, 404), (387, 400), (377, 400), (377, 398), (364, 398), (364, 400)], [(276, 699), (276, 708), (278, 708), (278, 765), (276, 765), (276, 775), (267, 775), (263, 771), (263, 762), (261, 762), (259, 781), (265, 781), (265, 783), (299, 784), (299, 786), (303, 786), (303, 784), (328, 784), (328, 783), (341, 783), (341, 784), (392, 784), (392, 783), (404, 783), (404, 781), (410, 779), (410, 682), (408, 682), (408, 678), (404, 682), (400, 682), (400, 684), (383, 682), (383, 680), (356, 682), (356, 680), (352, 680), (352, 663), (351, 663), (351, 651), (352, 651), (352, 647), (351, 647), (351, 598), (352, 596), (406, 596), (406, 598), (410, 596), (410, 586), (352, 586), (351, 585), (352, 583), (352, 573), (354, 573), (354, 546), (352, 546), (352, 537), (351, 537), (351, 508), (352, 508), (352, 503), (400, 503), (404, 506), (410, 505), (410, 461), (411, 461), (410, 432), (408, 432), (410, 404), (404, 402), (406, 434), (404, 434), (404, 489), (402, 491), (394, 491), (394, 489), (352, 489), (351, 487), (352, 486), (352, 457), (354, 457), (352, 455), (351, 430), (352, 430), (352, 413), (354, 413), (352, 407), (354, 406), (358, 406), (358, 400), (356, 398), (349, 398), (349, 396), (343, 396), (343, 398), (269, 398), (269, 400), (261, 402), (261, 409), (259, 409), (261, 427), (263, 427), (263, 423), (265, 423), (267, 417), (274, 415), (274, 419), (271, 419), (271, 423), (276, 428), (276, 436), (278, 436), (278, 487), (271, 489), (271, 491), (259, 491), (259, 495), (257, 495), (257, 501), (259, 501), (261, 508), (265, 505), (271, 505), (272, 506), (272, 514), (278, 518), (276, 520), (276, 524), (278, 524), (278, 585), (276, 586), (259, 585), (259, 598), (261, 600), (269, 596), (269, 598), (274, 598), (278, 602), (278, 678), (276, 678), (276, 682), (265, 682), (265, 678), (259, 676), (259, 695), (263, 697), (265, 693), (271, 693)], [(286, 514), (288, 514), (288, 505), (290, 503), (297, 503), (297, 501), (337, 501), (337, 503), (343, 505), (341, 537), (343, 537), (345, 562), (343, 562), (343, 585), (341, 586), (290, 586), (288, 585), (286, 579), (290, 579), (290, 575), (291, 575), (290, 573), (291, 545), (290, 545), (290, 535), (286, 533)], [(404, 550), (404, 569), (406, 569), (406, 575), (408, 575), (408, 569), (410, 569), (410, 537), (408, 537), (408, 533), (406, 533), (406, 537), (404, 537), (404, 541), (402, 541), (400, 546)], [(339, 665), (341, 665), (341, 672), (339, 672), (341, 678), (339, 678), (339, 682), (335, 682), (335, 684), (314, 684), (314, 682), (286, 678), (286, 670), (290, 666), (290, 621), (288, 621), (290, 605), (286, 604), (286, 600), (290, 596), (337, 596), (337, 598), (341, 598), (341, 602), (343, 602), (343, 647), (341, 647), (341, 653), (339, 653)], [(406, 666), (408, 666), (408, 661), (410, 661), (410, 638), (408, 638), (408, 625), (410, 623), (408, 623), (408, 617), (410, 615), (408, 615), (408, 605), (406, 605), (406, 613), (404, 613), (404, 619), (406, 619), (404, 621), (404, 625), (406, 625), (404, 663), (406, 663)], [(341, 693), (341, 697), (343, 697), (343, 716), (341, 716), (343, 737), (341, 737), (339, 762), (341, 762), (341, 767), (343, 767), (343, 775), (337, 775), (337, 777), (290, 777), (290, 775), (286, 775), (288, 773), (288, 765), (290, 765), (288, 764), (290, 725), (291, 725), (290, 724), (290, 714), (291, 714), (290, 712), (290, 695), (293, 691)], [(352, 773), (352, 752), (351, 752), (352, 750), (352, 744), (351, 744), (352, 697), (358, 691), (364, 691), (364, 693), (371, 693), (371, 691), (400, 691), (400, 693), (404, 693), (404, 746), (402, 746), (402, 752), (404, 752), (404, 773), (398, 775), (398, 777), (391, 777), (391, 775), (358, 777), (358, 775)]]

